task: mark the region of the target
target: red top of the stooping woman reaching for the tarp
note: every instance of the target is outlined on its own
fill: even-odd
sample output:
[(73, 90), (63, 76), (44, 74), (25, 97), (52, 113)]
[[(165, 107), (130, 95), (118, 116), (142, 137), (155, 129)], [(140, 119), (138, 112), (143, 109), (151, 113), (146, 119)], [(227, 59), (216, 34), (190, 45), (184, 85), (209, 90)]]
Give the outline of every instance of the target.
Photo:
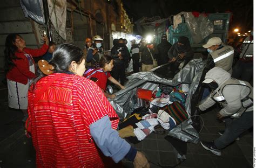
[(99, 69), (99, 68), (93, 69), (90, 73), (87, 73), (84, 75), (84, 77), (87, 79), (90, 79), (91, 77), (97, 78), (98, 81), (96, 82), (96, 84), (103, 90), (106, 90), (107, 78), (109, 78), (110, 76), (111, 75), (109, 72), (104, 72), (103, 69)]

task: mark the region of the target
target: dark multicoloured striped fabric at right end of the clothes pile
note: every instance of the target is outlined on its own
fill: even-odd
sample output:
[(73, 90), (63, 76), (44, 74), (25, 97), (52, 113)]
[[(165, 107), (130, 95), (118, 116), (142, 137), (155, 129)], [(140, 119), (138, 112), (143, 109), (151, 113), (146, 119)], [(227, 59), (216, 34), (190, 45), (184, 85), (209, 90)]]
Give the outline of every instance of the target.
[(177, 125), (188, 118), (185, 108), (179, 102), (173, 102), (161, 108), (161, 110), (166, 111), (176, 121)]

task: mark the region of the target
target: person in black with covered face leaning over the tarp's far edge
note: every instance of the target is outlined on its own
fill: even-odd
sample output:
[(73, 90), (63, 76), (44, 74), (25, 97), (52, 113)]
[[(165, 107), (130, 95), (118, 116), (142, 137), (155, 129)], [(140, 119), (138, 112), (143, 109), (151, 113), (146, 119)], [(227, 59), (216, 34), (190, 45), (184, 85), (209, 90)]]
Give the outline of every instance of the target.
[(174, 62), (175, 65), (179, 66), (181, 62), (184, 62), (183, 67), (193, 59), (194, 52), (190, 46), (190, 40), (187, 37), (181, 36), (177, 43), (168, 51), (169, 62)]

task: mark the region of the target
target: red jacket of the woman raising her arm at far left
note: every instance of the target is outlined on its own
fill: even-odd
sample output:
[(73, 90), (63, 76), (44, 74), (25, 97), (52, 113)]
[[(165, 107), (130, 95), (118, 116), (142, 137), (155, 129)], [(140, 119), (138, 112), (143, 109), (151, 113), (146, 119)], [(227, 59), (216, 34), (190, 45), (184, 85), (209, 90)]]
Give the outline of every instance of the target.
[[(26, 85), (26, 83), (28, 83), (28, 79), (32, 79), (36, 75), (29, 71), (29, 61), (26, 58), (25, 53), (30, 54), (32, 57), (39, 57), (46, 53), (48, 47), (48, 45), (44, 44), (40, 49), (24, 48), (23, 51), (17, 51), (15, 55), (21, 59), (13, 60), (15, 66), (6, 74), (6, 78)], [(32, 61), (33, 64), (35, 64), (33, 59)]]

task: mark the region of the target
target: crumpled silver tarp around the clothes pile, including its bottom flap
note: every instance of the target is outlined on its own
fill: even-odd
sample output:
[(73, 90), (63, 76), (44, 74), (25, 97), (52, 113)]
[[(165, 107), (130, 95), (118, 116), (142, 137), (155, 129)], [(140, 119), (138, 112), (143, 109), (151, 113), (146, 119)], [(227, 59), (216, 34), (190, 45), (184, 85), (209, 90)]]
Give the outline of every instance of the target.
[[(191, 99), (193, 94), (196, 92), (199, 85), (203, 69), (205, 67), (205, 62), (199, 59), (193, 59), (188, 64), (181, 69), (172, 79), (160, 78), (155, 72), (162, 68), (163, 73), (167, 73), (166, 65), (161, 65), (157, 68), (152, 69), (152, 72), (139, 72), (128, 76), (129, 81), (125, 85), (124, 90), (119, 90), (115, 93), (116, 98), (110, 100), (114, 110), (116, 110), (120, 120), (124, 120), (127, 114), (132, 113), (132, 111), (138, 108), (136, 90), (137, 88), (144, 88), (153, 90), (157, 87), (159, 83), (165, 85), (177, 86), (180, 83), (186, 84), (188, 87), (188, 95), (185, 103), (185, 109), (188, 116), (191, 116)], [(192, 127), (191, 120), (186, 120), (184, 123), (178, 125), (169, 131), (169, 136), (176, 137), (185, 142), (198, 143), (198, 133)]]

